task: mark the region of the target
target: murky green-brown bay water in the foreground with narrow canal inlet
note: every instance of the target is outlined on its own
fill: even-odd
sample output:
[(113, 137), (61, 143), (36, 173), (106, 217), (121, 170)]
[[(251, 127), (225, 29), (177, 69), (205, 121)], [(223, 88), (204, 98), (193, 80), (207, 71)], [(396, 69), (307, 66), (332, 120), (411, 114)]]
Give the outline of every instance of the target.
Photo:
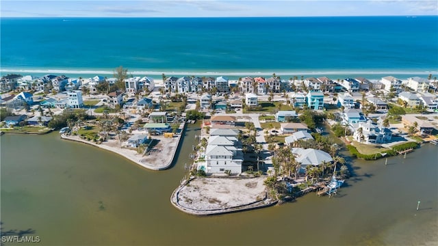
[[(170, 204), (198, 130), (170, 169), (49, 135), (1, 136), (3, 231), (31, 229), (43, 245), (420, 245), (438, 243), (438, 148), (355, 161), (335, 197), (212, 217)], [(417, 202), (420, 210), (416, 210)], [(10, 245), (7, 243), (6, 245)]]

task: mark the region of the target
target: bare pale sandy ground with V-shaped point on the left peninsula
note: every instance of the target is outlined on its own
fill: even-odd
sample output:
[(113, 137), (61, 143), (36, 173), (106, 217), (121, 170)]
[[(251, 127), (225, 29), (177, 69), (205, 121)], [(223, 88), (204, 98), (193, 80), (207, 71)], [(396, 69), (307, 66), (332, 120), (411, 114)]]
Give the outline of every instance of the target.
[(107, 140), (107, 141), (103, 141), (100, 144), (97, 144), (92, 141), (81, 139), (80, 137), (77, 136), (62, 134), (61, 137), (62, 139), (87, 143), (97, 148), (101, 148), (104, 150), (114, 152), (116, 154), (120, 154), (120, 156), (129, 159), (133, 163), (141, 165), (142, 167), (146, 167), (147, 169), (158, 171), (158, 170), (168, 169), (170, 165), (172, 165), (182, 135), (183, 135), (183, 130), (179, 135), (175, 137), (164, 137), (162, 135), (153, 136), (154, 141), (158, 141), (158, 143), (155, 146), (153, 146), (152, 150), (149, 151), (149, 154), (146, 155), (138, 154), (136, 150), (130, 150), (128, 148), (120, 148), (120, 143), (118, 140)]

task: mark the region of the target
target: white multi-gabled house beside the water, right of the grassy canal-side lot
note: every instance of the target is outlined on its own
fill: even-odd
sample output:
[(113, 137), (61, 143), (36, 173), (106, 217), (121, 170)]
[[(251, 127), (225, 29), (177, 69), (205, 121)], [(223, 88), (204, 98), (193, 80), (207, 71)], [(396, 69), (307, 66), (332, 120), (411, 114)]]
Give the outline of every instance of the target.
[(376, 123), (368, 120), (355, 125), (353, 137), (361, 143), (387, 143), (391, 141), (392, 132), (385, 127), (379, 127)]

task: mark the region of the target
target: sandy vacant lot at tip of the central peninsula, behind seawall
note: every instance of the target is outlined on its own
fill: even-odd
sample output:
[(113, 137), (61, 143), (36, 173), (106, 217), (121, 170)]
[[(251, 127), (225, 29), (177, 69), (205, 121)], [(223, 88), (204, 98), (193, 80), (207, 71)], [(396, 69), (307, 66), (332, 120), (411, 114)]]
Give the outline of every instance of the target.
[(265, 177), (196, 178), (178, 193), (178, 204), (193, 210), (216, 210), (243, 206), (266, 196)]

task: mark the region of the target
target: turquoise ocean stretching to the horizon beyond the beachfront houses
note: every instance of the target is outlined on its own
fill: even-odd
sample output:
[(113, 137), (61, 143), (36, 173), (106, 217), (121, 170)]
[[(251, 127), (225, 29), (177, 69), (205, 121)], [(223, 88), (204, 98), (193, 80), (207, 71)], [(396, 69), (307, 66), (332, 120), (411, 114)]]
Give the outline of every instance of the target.
[(438, 16), (0, 20), (2, 75), (438, 74)]

